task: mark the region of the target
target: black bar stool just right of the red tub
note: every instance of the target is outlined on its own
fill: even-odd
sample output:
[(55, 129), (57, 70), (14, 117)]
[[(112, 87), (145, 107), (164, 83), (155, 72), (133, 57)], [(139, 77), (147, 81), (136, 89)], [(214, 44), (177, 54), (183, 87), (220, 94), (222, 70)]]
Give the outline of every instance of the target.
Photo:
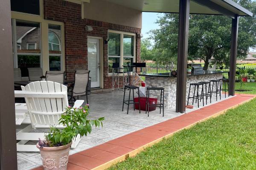
[[(149, 94), (151, 90), (160, 90), (160, 103), (159, 104), (150, 104), (149, 102)], [(163, 102), (162, 102), (162, 94), (163, 94)], [(147, 88), (147, 93), (146, 93), (146, 113), (148, 111), (148, 116), (149, 116), (149, 108), (150, 107), (158, 107), (160, 108), (160, 114), (161, 114), (161, 108), (163, 108), (163, 116), (164, 116), (164, 88)]]

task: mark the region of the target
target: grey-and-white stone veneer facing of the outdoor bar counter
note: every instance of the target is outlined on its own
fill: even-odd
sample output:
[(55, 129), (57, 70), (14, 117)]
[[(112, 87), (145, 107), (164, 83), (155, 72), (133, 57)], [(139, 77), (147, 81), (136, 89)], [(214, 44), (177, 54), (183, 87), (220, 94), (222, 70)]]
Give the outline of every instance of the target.
[[(189, 94), (189, 84), (195, 82), (209, 82), (211, 79), (221, 79), (222, 74), (206, 74), (206, 75), (198, 75), (198, 76), (188, 76), (187, 77), (187, 85), (186, 85), (186, 102)], [(145, 83), (147, 87), (163, 87), (164, 88), (164, 102), (165, 108), (171, 109), (176, 107), (176, 78), (175, 77), (145, 77)], [(205, 89), (205, 87), (204, 87)], [(215, 90), (216, 87), (213, 87)], [(208, 85), (207, 85), (208, 90)], [(190, 96), (194, 93), (194, 88), (191, 86)], [(199, 89), (199, 93), (201, 94), (201, 88)], [(150, 97), (155, 97), (160, 101), (160, 91), (150, 91)], [(216, 99), (216, 95), (212, 94), (212, 100)], [(189, 99), (189, 104), (192, 104), (192, 99)]]

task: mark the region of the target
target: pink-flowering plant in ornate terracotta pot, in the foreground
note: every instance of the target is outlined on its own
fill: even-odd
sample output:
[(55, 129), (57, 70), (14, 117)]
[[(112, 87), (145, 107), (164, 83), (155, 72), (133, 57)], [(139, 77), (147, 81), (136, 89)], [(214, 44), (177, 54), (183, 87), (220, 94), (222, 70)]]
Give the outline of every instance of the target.
[(39, 139), (36, 146), (40, 150), (44, 170), (66, 170), (72, 140), (78, 135), (87, 136), (87, 133), (91, 133), (93, 125), (102, 126), (104, 117), (90, 120), (87, 119), (88, 114), (88, 105), (80, 108), (69, 106), (59, 119), (59, 125), (65, 128), (52, 126), (45, 135), (46, 139)]

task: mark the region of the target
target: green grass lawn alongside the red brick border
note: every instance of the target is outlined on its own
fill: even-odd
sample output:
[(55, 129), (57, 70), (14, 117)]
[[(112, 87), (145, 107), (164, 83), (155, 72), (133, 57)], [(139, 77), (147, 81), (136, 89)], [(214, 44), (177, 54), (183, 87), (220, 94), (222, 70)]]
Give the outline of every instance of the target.
[[(256, 94), (256, 83), (246, 83)], [(254, 170), (256, 99), (182, 130), (110, 170)]]

